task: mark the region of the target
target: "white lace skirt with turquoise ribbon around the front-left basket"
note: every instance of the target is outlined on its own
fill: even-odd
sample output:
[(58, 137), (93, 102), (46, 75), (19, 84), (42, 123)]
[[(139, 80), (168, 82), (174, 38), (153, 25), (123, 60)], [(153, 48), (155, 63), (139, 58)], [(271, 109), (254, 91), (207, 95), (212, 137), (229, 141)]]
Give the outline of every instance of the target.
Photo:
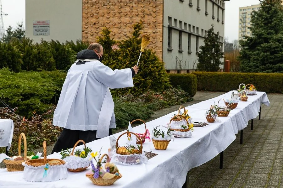
[(44, 168), (46, 165), (42, 166), (32, 166), (26, 165), (25, 162), (22, 163), (25, 166), (23, 178), (26, 181), (32, 182), (48, 182), (66, 179), (68, 177), (68, 170), (66, 164), (64, 165), (49, 165), (46, 176), (44, 174)]

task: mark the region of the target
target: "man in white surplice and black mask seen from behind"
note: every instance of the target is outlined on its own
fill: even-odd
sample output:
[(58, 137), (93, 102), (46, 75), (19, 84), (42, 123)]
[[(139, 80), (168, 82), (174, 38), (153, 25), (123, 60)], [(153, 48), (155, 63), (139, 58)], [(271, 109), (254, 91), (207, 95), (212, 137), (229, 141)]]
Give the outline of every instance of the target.
[(90, 44), (68, 70), (53, 116), (53, 125), (64, 129), (52, 153), (73, 148), (80, 139), (88, 143), (106, 137), (116, 128), (109, 88), (133, 87), (138, 67), (113, 71), (102, 56), (102, 45)]

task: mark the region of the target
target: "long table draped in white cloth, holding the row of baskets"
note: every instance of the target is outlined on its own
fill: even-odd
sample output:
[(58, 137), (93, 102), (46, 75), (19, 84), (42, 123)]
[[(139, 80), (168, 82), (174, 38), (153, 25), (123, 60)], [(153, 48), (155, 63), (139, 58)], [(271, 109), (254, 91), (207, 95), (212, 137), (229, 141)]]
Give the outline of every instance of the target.
[[(204, 112), (209, 109), (210, 105), (214, 105), (214, 102), (217, 104), (220, 98), (230, 98), (230, 92), (188, 106), (186, 109), (188, 109), (193, 121), (206, 122)], [(152, 142), (147, 140), (143, 144), (143, 150), (152, 151), (152, 153), (158, 155), (149, 159), (146, 164), (118, 165), (122, 178), (111, 187), (182, 187), (189, 170), (208, 162), (223, 152), (236, 139), (238, 131), (247, 127), (247, 122), (250, 119), (258, 116), (261, 103), (269, 106), (269, 100), (265, 92), (257, 92), (257, 95), (249, 96), (247, 102), (240, 101), (236, 109), (230, 111), (228, 117), (218, 117), (217, 122), (210, 123), (205, 127), (195, 127), (191, 138), (175, 138), (174, 141), (171, 140), (166, 150), (155, 150)], [(176, 113), (177, 111), (147, 122), (147, 128), (151, 132), (154, 126), (169, 123), (170, 118)], [(136, 133), (142, 133), (144, 132), (144, 125), (134, 127), (133, 130)], [(114, 136), (118, 138), (121, 133), (116, 133)], [(125, 144), (126, 140), (126, 137), (120, 139), (119, 144)], [(86, 145), (92, 148), (93, 151), (99, 151), (102, 147), (102, 153), (108, 153), (108, 148), (110, 148), (108, 137)], [(77, 148), (82, 149), (83, 146)], [(47, 158), (59, 159), (60, 155), (54, 153), (47, 156)], [(27, 182), (23, 179), (23, 172), (7, 172), (6, 169), (0, 169), (0, 187), (99, 187), (93, 185), (85, 176), (85, 173), (68, 172), (69, 177), (67, 179), (54, 182)]]

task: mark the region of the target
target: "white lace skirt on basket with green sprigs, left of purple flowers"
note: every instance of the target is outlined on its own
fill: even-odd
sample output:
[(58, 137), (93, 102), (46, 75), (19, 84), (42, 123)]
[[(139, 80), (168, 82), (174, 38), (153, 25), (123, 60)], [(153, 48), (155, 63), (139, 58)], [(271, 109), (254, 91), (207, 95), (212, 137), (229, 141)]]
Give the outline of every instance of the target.
[(86, 158), (81, 158), (78, 156), (70, 155), (63, 160), (66, 162), (66, 167), (68, 169), (78, 169), (78, 168), (86, 168), (90, 165), (90, 155), (87, 155)]

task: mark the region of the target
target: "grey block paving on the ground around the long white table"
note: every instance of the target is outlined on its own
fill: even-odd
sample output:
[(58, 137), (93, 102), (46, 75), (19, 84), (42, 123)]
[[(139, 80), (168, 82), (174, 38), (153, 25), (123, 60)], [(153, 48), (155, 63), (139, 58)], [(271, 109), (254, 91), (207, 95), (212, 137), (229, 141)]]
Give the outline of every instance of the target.
[[(223, 92), (197, 92), (195, 100), (184, 105), (221, 94)], [(262, 105), (261, 120), (254, 119), (252, 131), (249, 122), (243, 131), (243, 144), (237, 134), (236, 140), (224, 151), (223, 169), (219, 169), (218, 155), (189, 171), (187, 187), (283, 188), (283, 95), (268, 94), (268, 97), (270, 107)], [(146, 122), (174, 112), (179, 106), (159, 110)], [(52, 148), (53, 145), (47, 146), (47, 154)]]

